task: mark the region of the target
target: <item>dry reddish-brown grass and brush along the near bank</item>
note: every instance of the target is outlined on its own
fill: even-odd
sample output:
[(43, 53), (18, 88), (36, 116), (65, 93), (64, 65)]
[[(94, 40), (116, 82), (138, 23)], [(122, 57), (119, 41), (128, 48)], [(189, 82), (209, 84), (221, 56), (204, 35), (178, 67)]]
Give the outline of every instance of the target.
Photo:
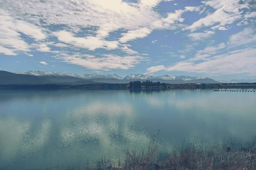
[[(90, 166), (87, 162), (86, 167), (69, 170), (256, 170), (256, 137), (247, 148), (234, 147), (232, 140), (230, 144), (212, 147), (183, 141), (168, 154), (160, 154), (160, 147), (158, 133), (146, 149), (124, 150), (123, 161), (113, 163), (99, 158)], [(53, 170), (62, 168), (57, 166)]]

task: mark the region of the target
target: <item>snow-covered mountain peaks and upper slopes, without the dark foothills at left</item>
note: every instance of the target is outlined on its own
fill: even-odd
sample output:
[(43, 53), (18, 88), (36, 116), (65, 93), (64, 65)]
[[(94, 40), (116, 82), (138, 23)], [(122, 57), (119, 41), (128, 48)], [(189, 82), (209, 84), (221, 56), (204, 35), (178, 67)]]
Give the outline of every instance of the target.
[[(21, 71), (16, 72), (16, 74), (29, 74), (34, 76), (41, 76), (41, 77), (49, 77), (49, 79), (52, 77), (70, 77), (70, 78), (79, 78), (79, 79), (91, 79), (91, 80), (97, 80), (100, 82), (106, 82), (107, 80), (122, 80), (121, 82), (129, 82), (131, 80), (151, 80), (151, 81), (162, 81), (162, 82), (174, 82), (175, 83), (186, 83), (186, 82), (210, 82), (215, 83), (216, 81), (213, 79), (209, 79), (208, 77), (190, 77), (190, 76), (169, 76), (169, 75), (163, 75), (163, 76), (151, 76), (151, 75), (144, 75), (144, 74), (130, 74), (126, 77), (120, 77), (116, 74), (67, 74), (63, 72), (50, 72), (50, 71)], [(62, 80), (64, 81), (64, 79)], [(120, 82), (119, 81), (119, 82)], [(107, 81), (110, 82), (110, 81)]]

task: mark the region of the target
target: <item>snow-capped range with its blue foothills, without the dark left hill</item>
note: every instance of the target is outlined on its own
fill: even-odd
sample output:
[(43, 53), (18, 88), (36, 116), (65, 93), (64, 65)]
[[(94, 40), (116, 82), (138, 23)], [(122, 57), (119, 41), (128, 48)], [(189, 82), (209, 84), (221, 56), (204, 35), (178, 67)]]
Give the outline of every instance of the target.
[(190, 76), (151, 76), (144, 74), (129, 74), (125, 77), (120, 77), (116, 74), (67, 74), (63, 72), (49, 72), (49, 71), (21, 71), (16, 72), (16, 74), (29, 74), (38, 77), (43, 77), (51, 82), (55, 83), (70, 83), (79, 82), (82, 80), (91, 80), (93, 82), (102, 83), (129, 83), (130, 81), (145, 81), (150, 80), (153, 82), (166, 82), (172, 84), (186, 84), (186, 83), (219, 83), (214, 79), (208, 77), (190, 77)]

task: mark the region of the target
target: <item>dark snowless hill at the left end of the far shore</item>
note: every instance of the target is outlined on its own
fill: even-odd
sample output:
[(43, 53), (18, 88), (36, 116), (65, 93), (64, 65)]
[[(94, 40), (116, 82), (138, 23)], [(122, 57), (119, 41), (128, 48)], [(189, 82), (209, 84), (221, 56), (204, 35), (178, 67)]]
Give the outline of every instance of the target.
[(0, 85), (20, 84), (20, 85), (36, 85), (36, 84), (50, 84), (51, 81), (43, 77), (37, 77), (25, 74), (15, 74), (8, 71), (0, 71)]

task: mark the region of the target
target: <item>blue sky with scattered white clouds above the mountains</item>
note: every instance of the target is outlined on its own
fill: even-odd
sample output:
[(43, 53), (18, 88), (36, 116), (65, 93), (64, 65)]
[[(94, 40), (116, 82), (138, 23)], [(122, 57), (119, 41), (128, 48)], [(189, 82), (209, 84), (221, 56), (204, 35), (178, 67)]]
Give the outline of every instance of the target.
[(0, 70), (256, 79), (255, 0), (0, 0)]

